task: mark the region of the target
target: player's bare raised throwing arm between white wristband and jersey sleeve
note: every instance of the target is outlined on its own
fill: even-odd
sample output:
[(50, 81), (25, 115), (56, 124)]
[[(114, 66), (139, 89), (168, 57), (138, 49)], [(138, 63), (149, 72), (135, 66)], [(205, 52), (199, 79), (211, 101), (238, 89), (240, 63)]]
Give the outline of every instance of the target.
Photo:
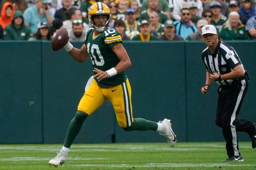
[(79, 63), (82, 63), (89, 58), (89, 53), (87, 52), (87, 47), (85, 44), (81, 46), (81, 49), (73, 47), (73, 49), (68, 53), (72, 58), (74, 58), (74, 60), (78, 61)]

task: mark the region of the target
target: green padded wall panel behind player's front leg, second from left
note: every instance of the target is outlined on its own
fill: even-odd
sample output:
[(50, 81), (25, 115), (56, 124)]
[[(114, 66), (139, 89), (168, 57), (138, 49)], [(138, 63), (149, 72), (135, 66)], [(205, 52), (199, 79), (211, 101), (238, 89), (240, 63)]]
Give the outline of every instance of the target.
[[(73, 42), (81, 47), (81, 42)], [(53, 51), (42, 43), (44, 143), (62, 143), (70, 120), (84, 95), (87, 80), (92, 76), (91, 60), (79, 63), (64, 50)], [(111, 143), (114, 113), (106, 102), (89, 116), (75, 143)]]

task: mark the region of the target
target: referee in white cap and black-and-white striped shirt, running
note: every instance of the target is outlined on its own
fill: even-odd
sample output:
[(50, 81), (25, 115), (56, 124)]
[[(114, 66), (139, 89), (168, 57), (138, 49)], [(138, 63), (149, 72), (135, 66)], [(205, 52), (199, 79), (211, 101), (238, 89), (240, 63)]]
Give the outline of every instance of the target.
[(218, 40), (213, 25), (204, 26), (202, 36), (208, 47), (202, 52), (206, 85), (201, 92), (206, 94), (213, 81), (220, 85), (215, 123), (222, 128), (226, 140), (228, 159), (224, 161), (244, 161), (238, 148), (237, 132), (246, 132), (252, 140), (252, 148), (256, 148), (255, 125), (249, 120), (236, 119), (248, 89), (248, 74), (233, 47)]

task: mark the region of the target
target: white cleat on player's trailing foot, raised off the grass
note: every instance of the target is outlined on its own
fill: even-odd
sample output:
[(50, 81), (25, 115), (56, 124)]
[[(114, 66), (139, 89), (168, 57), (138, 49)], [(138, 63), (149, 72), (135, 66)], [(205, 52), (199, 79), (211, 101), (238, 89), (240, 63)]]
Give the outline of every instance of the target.
[(176, 135), (171, 128), (171, 120), (164, 119), (163, 121), (159, 121), (159, 123), (161, 123), (165, 129), (164, 133), (159, 132), (159, 134), (165, 137), (166, 141), (170, 144), (171, 147), (174, 147), (177, 140)]

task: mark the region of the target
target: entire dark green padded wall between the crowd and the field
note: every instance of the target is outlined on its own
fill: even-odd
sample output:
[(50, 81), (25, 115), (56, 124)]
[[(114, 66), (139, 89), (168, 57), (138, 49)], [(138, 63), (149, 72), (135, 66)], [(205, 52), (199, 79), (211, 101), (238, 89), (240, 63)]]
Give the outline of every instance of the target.
[[(238, 118), (256, 121), (256, 41), (227, 41), (234, 47), (251, 80)], [(81, 42), (73, 42), (80, 48)], [(124, 42), (132, 67), (133, 117), (172, 120), (179, 142), (224, 141), (215, 125), (217, 84), (207, 95), (203, 42)], [(91, 61), (74, 61), (50, 42), (0, 42), (0, 143), (62, 143), (84, 87)], [(239, 133), (240, 141), (250, 141)], [(164, 142), (153, 131), (126, 132), (118, 126), (110, 102), (90, 115), (75, 143)]]

